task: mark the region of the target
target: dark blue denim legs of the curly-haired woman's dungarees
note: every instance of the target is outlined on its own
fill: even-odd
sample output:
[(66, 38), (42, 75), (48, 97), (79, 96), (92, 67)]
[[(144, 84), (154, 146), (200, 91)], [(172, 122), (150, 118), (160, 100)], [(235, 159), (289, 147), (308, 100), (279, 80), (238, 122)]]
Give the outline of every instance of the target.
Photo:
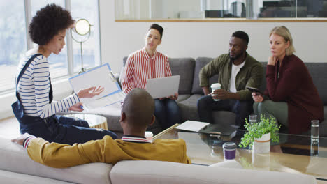
[(114, 132), (97, 128), (89, 128), (87, 121), (52, 115), (44, 119), (40, 117), (25, 116), (27, 123), (20, 123), (20, 132), (36, 137), (42, 137), (49, 142), (61, 144), (85, 143), (87, 141), (102, 139), (109, 135), (117, 139)]

